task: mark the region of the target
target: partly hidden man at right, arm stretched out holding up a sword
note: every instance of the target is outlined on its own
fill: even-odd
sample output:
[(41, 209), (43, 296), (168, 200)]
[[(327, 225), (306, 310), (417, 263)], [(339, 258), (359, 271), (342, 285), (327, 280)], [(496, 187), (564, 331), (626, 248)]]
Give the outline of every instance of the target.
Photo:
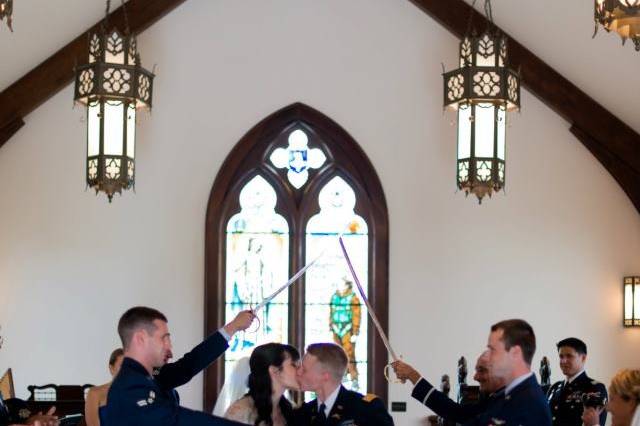
[(445, 420), (465, 423), (482, 413), (491, 398), (504, 389), (502, 379), (489, 374), (489, 361), (484, 354), (476, 361), (473, 379), (480, 384), (480, 401), (477, 404), (458, 404), (420, 376), (413, 367), (403, 361), (396, 361), (392, 367), (400, 380), (410, 380), (414, 384), (411, 396), (431, 408)]

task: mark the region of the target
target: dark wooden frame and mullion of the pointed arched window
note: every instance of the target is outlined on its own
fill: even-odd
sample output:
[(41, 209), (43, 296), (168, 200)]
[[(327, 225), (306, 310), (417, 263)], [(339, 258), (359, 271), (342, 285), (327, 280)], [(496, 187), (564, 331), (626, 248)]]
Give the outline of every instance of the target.
[[(286, 177), (279, 170), (266, 164), (265, 155), (280, 141), (282, 135), (294, 126), (303, 126), (310, 137), (310, 145), (324, 144), (330, 156), (327, 166), (312, 172), (301, 191), (293, 192)], [(387, 204), (373, 165), (357, 142), (337, 123), (322, 113), (300, 103), (290, 105), (270, 115), (254, 126), (231, 150), (216, 176), (205, 225), (205, 333), (222, 326), (224, 310), (225, 225), (230, 215), (237, 211), (237, 196), (241, 184), (256, 173), (267, 178), (283, 201), (276, 209), (289, 221), (291, 258), (290, 272), (305, 263), (304, 229), (307, 219), (317, 212), (317, 195), (323, 184), (333, 176), (345, 178), (356, 191), (357, 212), (369, 226), (369, 298), (385, 330), (388, 330), (389, 294), (389, 218)], [(303, 282), (304, 283), (304, 282)], [(302, 283), (302, 284), (303, 284)], [(304, 339), (303, 312), (304, 285), (291, 288), (290, 300), (294, 309), (290, 314), (291, 343), (302, 346)], [(388, 355), (381, 339), (369, 321), (369, 391), (387, 398), (387, 382), (383, 368)], [(217, 362), (205, 371), (204, 407), (213, 408), (223, 381), (223, 363)]]

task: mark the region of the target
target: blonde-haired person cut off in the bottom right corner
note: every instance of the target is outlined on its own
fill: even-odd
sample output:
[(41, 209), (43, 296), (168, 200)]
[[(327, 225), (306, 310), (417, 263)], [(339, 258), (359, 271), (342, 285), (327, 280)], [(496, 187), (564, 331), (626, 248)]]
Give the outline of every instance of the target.
[[(584, 426), (604, 426), (599, 423), (599, 411), (585, 409)], [(621, 370), (611, 379), (607, 411), (611, 426), (640, 426), (640, 370)]]

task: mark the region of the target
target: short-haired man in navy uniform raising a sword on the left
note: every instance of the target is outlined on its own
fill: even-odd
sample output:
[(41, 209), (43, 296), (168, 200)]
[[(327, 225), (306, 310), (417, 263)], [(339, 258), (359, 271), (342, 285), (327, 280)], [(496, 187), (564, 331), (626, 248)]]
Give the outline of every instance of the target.
[[(242, 311), (236, 318), (182, 359), (171, 358), (171, 335), (167, 318), (156, 309), (136, 306), (125, 312), (118, 323), (125, 358), (113, 380), (107, 405), (100, 409), (104, 426), (227, 426), (238, 425), (178, 404), (174, 388), (187, 383), (229, 346), (239, 330), (245, 330), (255, 316)], [(153, 375), (154, 369), (158, 369)]]

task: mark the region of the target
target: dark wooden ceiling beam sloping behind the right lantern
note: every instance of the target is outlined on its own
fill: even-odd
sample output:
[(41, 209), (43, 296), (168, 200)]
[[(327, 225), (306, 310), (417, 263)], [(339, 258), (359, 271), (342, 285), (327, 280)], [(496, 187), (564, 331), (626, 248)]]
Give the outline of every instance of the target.
[[(484, 30), (489, 24), (482, 14), (464, 0), (410, 1), (459, 38), (467, 31), (470, 14), (473, 14), (473, 27), (478, 31)], [(640, 135), (533, 52), (512, 37), (507, 37), (509, 62), (520, 70), (522, 84), (575, 128), (580, 129), (583, 137), (578, 139), (613, 175), (640, 211), (637, 183), (630, 179), (633, 173), (640, 173)], [(585, 43), (588, 42), (589, 40), (585, 40)], [(606, 152), (606, 155), (598, 155), (596, 152)]]

